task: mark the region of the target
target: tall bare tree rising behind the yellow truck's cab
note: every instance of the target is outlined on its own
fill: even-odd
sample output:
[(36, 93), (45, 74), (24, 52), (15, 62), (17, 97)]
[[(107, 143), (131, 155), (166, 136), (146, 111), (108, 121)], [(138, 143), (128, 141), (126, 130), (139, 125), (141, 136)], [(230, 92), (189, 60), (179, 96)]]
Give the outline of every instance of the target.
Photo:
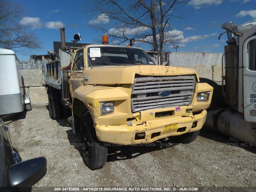
[[(98, 32), (104, 32), (110, 41), (122, 44), (135, 38), (136, 42), (148, 43), (160, 53), (163, 63), (163, 48), (174, 45), (181, 37), (180, 32), (172, 32), (170, 19), (182, 18), (174, 14), (179, 4), (186, 0), (91, 0), (88, 13), (97, 18), (89, 22)], [(109, 29), (110, 24), (114, 26)]]

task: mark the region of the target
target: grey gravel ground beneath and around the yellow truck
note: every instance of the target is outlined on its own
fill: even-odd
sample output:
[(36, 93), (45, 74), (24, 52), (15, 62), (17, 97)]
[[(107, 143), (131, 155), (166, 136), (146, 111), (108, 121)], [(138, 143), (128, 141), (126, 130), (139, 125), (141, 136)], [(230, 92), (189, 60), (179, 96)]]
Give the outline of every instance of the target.
[(232, 143), (227, 136), (204, 128), (186, 145), (172, 145), (166, 138), (152, 146), (111, 146), (106, 165), (92, 171), (76, 146), (78, 135), (72, 134), (66, 119), (51, 120), (47, 105), (32, 105), (32, 111), (9, 118), (6, 124), (22, 160), (47, 158), (47, 173), (33, 191), (42, 186), (210, 187), (202, 191), (243, 187), (230, 191), (256, 191), (256, 147)]

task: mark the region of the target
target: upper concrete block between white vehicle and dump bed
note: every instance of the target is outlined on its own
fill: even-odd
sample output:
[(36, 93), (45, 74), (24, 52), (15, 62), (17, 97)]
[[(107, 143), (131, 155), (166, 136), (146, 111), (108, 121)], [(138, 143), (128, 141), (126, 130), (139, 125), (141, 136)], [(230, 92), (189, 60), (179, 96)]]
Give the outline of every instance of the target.
[(40, 87), (42, 85), (42, 70), (21, 70), (23, 87)]

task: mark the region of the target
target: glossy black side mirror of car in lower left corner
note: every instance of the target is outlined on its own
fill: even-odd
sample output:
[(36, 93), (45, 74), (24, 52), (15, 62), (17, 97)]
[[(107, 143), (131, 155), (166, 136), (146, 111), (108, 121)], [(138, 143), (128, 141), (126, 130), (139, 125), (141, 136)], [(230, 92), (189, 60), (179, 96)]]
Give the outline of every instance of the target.
[(47, 160), (45, 157), (33, 158), (8, 168), (8, 186), (10, 191), (28, 190), (39, 180), (47, 171)]

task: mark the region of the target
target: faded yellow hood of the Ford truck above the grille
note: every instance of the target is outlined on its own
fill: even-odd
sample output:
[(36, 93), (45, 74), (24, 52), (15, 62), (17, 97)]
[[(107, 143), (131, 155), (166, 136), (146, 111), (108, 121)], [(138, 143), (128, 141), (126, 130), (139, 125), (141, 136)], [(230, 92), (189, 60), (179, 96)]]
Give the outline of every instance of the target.
[(84, 77), (86, 84), (132, 84), (135, 74), (145, 76), (177, 76), (198, 75), (190, 68), (170, 67), (162, 65), (107, 66), (86, 68)]

